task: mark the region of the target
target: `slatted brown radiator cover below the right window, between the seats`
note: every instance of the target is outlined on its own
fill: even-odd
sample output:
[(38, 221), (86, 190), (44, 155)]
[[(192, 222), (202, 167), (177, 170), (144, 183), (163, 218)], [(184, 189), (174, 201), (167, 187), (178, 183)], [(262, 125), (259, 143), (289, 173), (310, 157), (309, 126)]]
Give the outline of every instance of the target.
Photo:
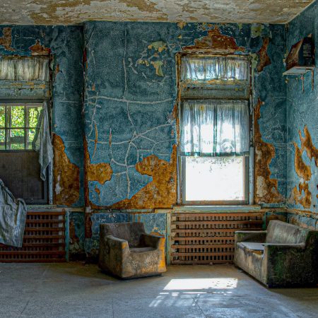
[(235, 231), (262, 224), (262, 213), (172, 213), (171, 263), (231, 263)]

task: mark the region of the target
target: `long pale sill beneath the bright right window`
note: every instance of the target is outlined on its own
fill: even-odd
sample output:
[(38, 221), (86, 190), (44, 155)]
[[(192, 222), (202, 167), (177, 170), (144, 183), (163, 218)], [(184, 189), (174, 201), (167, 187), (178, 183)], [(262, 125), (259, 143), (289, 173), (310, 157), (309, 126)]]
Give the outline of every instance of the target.
[(191, 212), (252, 212), (259, 211), (261, 206), (174, 206), (174, 211), (191, 211)]

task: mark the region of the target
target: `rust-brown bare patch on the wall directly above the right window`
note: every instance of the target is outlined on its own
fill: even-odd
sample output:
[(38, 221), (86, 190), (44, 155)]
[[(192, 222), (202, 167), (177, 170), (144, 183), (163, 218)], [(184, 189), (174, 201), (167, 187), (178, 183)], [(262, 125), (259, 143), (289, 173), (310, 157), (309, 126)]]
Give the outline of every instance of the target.
[(208, 30), (208, 35), (205, 37), (194, 40), (194, 45), (183, 47), (183, 49), (186, 51), (208, 49), (218, 53), (245, 52), (245, 47), (238, 47), (235, 38), (223, 35), (217, 26), (213, 30)]

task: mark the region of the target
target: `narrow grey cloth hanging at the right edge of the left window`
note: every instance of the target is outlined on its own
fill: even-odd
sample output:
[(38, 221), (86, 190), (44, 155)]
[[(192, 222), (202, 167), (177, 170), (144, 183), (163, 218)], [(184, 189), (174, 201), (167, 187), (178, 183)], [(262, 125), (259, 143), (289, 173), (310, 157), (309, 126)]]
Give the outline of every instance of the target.
[(53, 160), (53, 147), (51, 134), (49, 133), (49, 107), (47, 101), (43, 102), (40, 131), (35, 146), (39, 151), (39, 163), (41, 165), (40, 177), (42, 180), (45, 180), (47, 178), (47, 167)]

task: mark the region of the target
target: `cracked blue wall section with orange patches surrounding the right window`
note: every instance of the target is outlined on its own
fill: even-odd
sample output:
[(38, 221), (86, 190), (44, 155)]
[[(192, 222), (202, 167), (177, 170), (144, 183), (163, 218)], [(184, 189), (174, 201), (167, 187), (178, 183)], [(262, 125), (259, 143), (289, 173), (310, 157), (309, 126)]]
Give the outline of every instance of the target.
[[(93, 208), (170, 208), (175, 204), (175, 54), (198, 48), (254, 57), (258, 69), (254, 99), (264, 102), (261, 111), (256, 107), (259, 136), (272, 149), (264, 163), (256, 163), (259, 173), (264, 164), (268, 170), (257, 202), (284, 200), (283, 26), (88, 22), (84, 36), (88, 153), (91, 163), (109, 163), (112, 168), (105, 184), (88, 182)], [(262, 155), (266, 154), (260, 150)], [(272, 184), (276, 184), (275, 196)]]

